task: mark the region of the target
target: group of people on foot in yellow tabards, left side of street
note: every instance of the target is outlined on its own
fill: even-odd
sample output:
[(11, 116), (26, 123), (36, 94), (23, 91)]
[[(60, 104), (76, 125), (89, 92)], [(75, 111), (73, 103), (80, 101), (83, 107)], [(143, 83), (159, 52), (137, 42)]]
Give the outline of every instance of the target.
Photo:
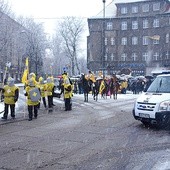
[[(58, 96), (63, 93), (65, 102), (65, 111), (72, 109), (71, 98), (72, 98), (72, 84), (66, 72), (62, 74), (62, 91)], [(15, 119), (15, 104), (19, 98), (19, 88), (15, 85), (14, 79), (9, 77), (7, 84), (0, 88), (1, 99), (4, 102), (4, 114), (1, 118), (2, 120), (8, 119), (8, 112), (10, 108), (11, 118)], [(55, 96), (55, 84), (53, 77), (48, 77), (44, 80), (40, 77), (36, 81), (36, 75), (30, 73), (28, 80), (25, 82), (24, 95), (27, 98), (27, 110), (28, 110), (28, 120), (31, 121), (33, 118), (37, 119), (38, 110), (40, 108), (41, 100), (45, 109), (48, 112), (53, 111), (53, 97)]]

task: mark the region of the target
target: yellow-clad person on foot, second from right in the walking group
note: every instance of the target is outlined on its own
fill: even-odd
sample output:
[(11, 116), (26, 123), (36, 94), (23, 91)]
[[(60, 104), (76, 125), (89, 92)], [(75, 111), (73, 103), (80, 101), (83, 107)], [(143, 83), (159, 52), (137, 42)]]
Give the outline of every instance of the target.
[(53, 83), (52, 77), (47, 78), (47, 99), (48, 99), (48, 109), (49, 112), (53, 111), (53, 93), (55, 85)]

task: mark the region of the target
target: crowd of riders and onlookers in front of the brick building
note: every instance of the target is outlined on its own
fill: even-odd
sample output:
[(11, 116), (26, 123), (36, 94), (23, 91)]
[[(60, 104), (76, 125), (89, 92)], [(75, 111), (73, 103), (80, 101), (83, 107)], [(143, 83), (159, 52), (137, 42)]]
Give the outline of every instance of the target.
[[(139, 94), (142, 91), (146, 91), (150, 84), (153, 81), (153, 77), (145, 77), (145, 76), (138, 76), (138, 77), (126, 77), (126, 76), (118, 76), (118, 75), (112, 75), (112, 76), (105, 76), (105, 78), (102, 77), (102, 75), (99, 73), (98, 76), (95, 76), (91, 71), (89, 71), (89, 74), (85, 75), (86, 79), (89, 80), (89, 84), (96, 84), (98, 82), (100, 85), (99, 87), (99, 94), (101, 96), (107, 95), (110, 96), (113, 94), (112, 89), (116, 85), (117, 86), (117, 92), (126, 94), (127, 90), (131, 91), (133, 94)], [(92, 91), (92, 88), (89, 87), (89, 91)], [(73, 92), (76, 94), (83, 94), (83, 81), (82, 77), (80, 79), (75, 80), (73, 82)]]

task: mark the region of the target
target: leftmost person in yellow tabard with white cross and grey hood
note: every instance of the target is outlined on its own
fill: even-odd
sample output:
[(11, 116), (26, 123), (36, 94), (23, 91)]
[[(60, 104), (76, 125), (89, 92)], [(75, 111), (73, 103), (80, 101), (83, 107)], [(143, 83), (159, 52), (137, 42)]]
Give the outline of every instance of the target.
[(7, 83), (8, 84), (5, 85), (4, 88), (0, 89), (2, 90), (5, 106), (2, 120), (7, 120), (9, 107), (11, 110), (11, 118), (15, 119), (15, 103), (17, 102), (19, 97), (19, 88), (15, 86), (14, 79), (12, 77), (9, 77)]

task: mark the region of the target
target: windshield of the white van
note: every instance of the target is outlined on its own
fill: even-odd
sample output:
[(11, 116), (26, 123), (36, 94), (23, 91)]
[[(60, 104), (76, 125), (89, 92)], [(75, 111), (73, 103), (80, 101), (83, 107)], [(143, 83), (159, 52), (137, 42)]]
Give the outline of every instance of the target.
[(170, 76), (160, 76), (157, 77), (150, 87), (148, 88), (147, 92), (152, 93), (170, 93)]

